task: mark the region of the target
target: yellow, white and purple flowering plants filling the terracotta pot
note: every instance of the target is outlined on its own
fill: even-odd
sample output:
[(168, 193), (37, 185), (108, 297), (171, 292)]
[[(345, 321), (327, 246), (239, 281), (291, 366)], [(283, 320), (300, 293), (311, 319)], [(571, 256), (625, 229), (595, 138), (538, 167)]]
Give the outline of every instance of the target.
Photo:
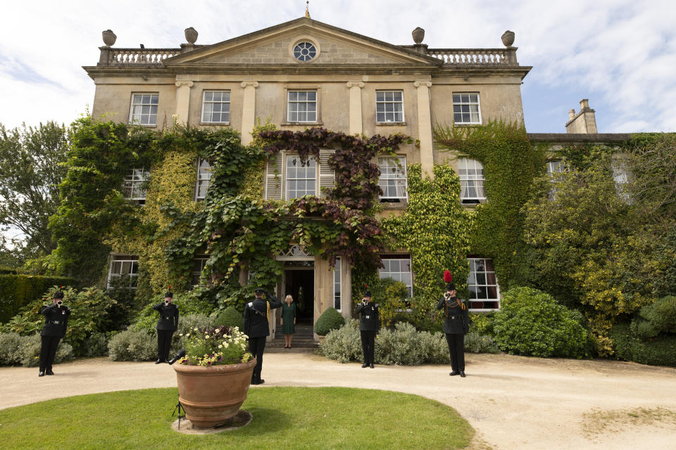
[(185, 333), (185, 356), (180, 359), (179, 364), (225, 366), (246, 363), (253, 358), (246, 349), (246, 335), (237, 327), (195, 327)]

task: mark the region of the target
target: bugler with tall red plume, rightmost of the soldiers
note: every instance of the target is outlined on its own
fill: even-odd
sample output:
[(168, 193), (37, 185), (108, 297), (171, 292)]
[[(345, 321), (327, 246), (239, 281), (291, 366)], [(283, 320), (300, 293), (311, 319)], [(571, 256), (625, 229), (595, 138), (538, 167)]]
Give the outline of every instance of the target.
[(444, 308), (444, 333), (451, 354), (452, 372), (449, 375), (465, 378), (465, 335), (470, 330), (470, 319), (465, 302), (456, 298), (456, 286), (450, 282), (450, 277), (444, 275), (444, 279), (449, 282), (446, 283), (446, 294), (439, 300), (437, 309)]

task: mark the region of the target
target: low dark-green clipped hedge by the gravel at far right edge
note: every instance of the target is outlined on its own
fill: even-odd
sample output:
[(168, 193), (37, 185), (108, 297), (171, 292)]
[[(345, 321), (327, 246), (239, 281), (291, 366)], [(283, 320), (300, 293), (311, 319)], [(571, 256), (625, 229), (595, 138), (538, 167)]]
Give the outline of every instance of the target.
[(676, 335), (641, 340), (632, 335), (629, 323), (618, 323), (610, 335), (618, 359), (651, 366), (676, 367)]

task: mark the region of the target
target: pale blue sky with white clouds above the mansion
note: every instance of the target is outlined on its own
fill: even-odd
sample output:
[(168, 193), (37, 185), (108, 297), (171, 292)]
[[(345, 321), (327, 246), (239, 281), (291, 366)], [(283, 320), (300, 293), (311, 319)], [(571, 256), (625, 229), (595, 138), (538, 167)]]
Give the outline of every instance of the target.
[[(101, 31), (116, 47), (177, 47), (183, 30), (213, 44), (303, 15), (300, 0), (11, 1), (0, 14), (0, 122), (70, 123), (94, 98)], [(516, 33), (533, 69), (522, 95), (527, 130), (565, 132), (589, 98), (600, 132), (676, 130), (676, 2), (668, 0), (313, 0), (312, 18), (392, 44), (425, 29), (431, 48), (499, 48)]]

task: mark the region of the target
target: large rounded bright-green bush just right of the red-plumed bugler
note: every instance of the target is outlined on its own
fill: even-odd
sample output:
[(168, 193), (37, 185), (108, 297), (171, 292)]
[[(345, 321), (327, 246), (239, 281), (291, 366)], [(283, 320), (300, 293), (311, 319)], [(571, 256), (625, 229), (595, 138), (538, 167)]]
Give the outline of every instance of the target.
[(532, 288), (504, 293), (494, 315), (495, 341), (510, 354), (549, 358), (581, 358), (589, 351), (589, 333), (582, 314), (567, 309)]

